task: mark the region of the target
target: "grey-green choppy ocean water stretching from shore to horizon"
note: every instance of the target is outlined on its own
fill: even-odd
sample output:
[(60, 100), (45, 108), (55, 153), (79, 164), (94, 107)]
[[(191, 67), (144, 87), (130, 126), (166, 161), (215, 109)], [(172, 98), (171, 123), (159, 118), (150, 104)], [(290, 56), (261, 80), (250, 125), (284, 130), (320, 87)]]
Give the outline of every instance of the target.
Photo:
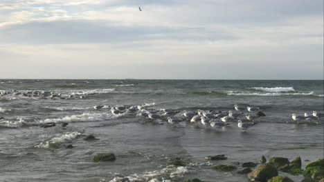
[[(301, 156), (305, 166), (305, 160), (324, 156), (323, 119), (296, 124), (291, 114), (323, 113), (323, 87), (323, 81), (0, 80), (0, 92), (7, 92), (0, 94), (0, 181), (249, 181), (211, 167), (257, 162), (262, 155)], [(51, 98), (50, 92), (60, 96)], [(213, 130), (189, 121), (138, 118), (137, 112), (111, 113), (115, 105), (228, 111), (234, 104), (258, 107), (267, 116), (243, 132), (237, 123)], [(56, 126), (41, 128), (44, 123)], [(84, 141), (88, 134), (98, 140)], [(98, 152), (113, 152), (116, 161), (93, 163)], [(204, 159), (215, 154), (228, 160)], [(175, 157), (190, 163), (167, 165)]]

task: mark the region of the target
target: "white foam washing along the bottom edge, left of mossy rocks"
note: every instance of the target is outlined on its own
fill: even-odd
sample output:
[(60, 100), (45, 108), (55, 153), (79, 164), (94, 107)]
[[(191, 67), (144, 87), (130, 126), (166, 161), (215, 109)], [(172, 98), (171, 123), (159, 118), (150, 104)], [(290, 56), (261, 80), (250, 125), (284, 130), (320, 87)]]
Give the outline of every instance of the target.
[(130, 182), (134, 181), (151, 181), (151, 182), (167, 182), (167, 181), (179, 181), (183, 178), (184, 174), (189, 173), (187, 167), (168, 165), (162, 170), (154, 170), (151, 172), (143, 172), (142, 174), (132, 174), (125, 176), (124, 178), (115, 177), (109, 182), (121, 182), (125, 178), (129, 179)]

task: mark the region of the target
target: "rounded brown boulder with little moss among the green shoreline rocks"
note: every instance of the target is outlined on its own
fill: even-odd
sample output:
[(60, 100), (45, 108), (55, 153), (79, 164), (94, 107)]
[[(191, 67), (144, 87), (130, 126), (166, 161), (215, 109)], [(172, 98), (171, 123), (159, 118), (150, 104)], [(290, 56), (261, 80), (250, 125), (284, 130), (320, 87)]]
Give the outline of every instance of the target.
[(271, 163), (264, 163), (259, 165), (255, 170), (248, 174), (251, 181), (261, 181), (266, 182), (273, 176), (278, 176), (277, 168)]

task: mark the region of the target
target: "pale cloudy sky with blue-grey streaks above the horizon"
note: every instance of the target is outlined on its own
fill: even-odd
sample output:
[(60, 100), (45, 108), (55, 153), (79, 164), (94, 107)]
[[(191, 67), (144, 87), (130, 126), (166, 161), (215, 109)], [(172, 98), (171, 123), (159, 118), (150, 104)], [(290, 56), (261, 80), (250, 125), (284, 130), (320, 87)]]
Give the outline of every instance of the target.
[(323, 26), (323, 0), (0, 0), (0, 79), (323, 79)]

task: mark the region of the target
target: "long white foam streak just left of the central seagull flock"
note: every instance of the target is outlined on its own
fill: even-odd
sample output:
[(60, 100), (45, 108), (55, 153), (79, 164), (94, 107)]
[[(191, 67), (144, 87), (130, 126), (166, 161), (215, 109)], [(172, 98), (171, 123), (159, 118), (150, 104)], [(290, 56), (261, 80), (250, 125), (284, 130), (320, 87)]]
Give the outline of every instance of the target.
[(80, 115), (72, 115), (66, 116), (63, 118), (57, 119), (45, 119), (44, 121), (40, 121), (40, 123), (62, 123), (62, 122), (82, 122), (82, 121), (105, 121), (107, 119), (112, 119), (114, 116), (109, 112), (104, 113), (83, 113)]

